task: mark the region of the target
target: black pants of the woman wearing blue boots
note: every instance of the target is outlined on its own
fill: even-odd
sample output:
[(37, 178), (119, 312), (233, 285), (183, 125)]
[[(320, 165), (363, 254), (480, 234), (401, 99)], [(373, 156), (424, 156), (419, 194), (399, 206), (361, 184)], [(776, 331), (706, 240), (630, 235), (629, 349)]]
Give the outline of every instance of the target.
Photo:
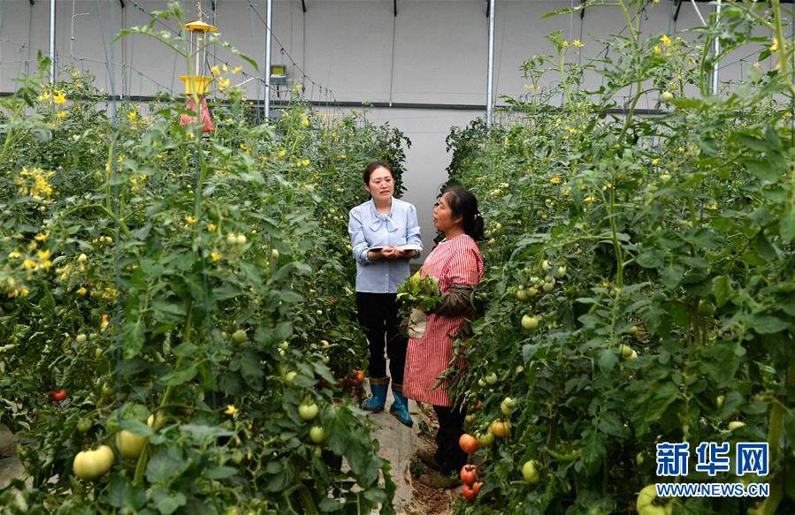
[(397, 293), (356, 292), (356, 310), (359, 324), (370, 342), (370, 377), (386, 377), (386, 342), (392, 382), (402, 384), (409, 338), (401, 336)]

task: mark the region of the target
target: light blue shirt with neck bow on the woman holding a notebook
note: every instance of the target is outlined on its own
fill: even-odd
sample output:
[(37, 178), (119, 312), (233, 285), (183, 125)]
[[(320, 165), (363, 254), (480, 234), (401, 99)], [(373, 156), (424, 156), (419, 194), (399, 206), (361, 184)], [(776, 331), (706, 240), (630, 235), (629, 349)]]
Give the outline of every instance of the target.
[(350, 210), (348, 232), (356, 260), (356, 292), (397, 293), (411, 273), (409, 259), (370, 261), (367, 251), (373, 246), (422, 246), (417, 209), (393, 198), (392, 210), (384, 215), (372, 200), (366, 201)]

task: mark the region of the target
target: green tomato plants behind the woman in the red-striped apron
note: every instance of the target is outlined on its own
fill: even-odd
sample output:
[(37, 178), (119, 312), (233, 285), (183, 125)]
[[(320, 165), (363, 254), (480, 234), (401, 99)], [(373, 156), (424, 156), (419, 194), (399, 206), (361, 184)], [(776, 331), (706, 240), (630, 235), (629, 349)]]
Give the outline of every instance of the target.
[[(577, 87), (574, 46), (554, 35), (557, 56), (525, 65), (532, 90), (510, 102), (511, 122), (448, 138), (450, 180), (477, 194), (488, 239), (485, 315), (462, 342), (469, 368), (454, 391), (478, 414), (475, 428), (503, 418), (502, 399), (519, 403), (511, 437), (478, 451), (485, 485), (459, 512), (634, 511), (638, 490), (660, 481), (655, 443), (683, 441), (768, 441), (766, 478), (710, 479), (691, 466), (686, 481), (769, 482), (774, 493), (677, 499), (675, 513), (795, 506), (795, 88), (785, 69), (753, 69), (720, 97), (705, 80), (711, 38), (724, 53), (757, 41), (747, 9), (730, 6), (692, 44), (643, 41), (630, 27), (607, 43), (594, 92)], [(770, 11), (774, 37), (780, 16)], [(786, 61), (791, 41), (778, 51)], [(532, 87), (543, 73), (560, 86)], [(699, 93), (685, 97), (688, 83)], [(650, 85), (674, 99), (638, 117)], [(628, 87), (623, 114), (607, 114)], [(538, 328), (522, 329), (524, 315)], [(492, 373), (495, 385), (478, 382)], [(732, 420), (745, 426), (730, 431)], [(521, 481), (530, 458), (535, 487)]]

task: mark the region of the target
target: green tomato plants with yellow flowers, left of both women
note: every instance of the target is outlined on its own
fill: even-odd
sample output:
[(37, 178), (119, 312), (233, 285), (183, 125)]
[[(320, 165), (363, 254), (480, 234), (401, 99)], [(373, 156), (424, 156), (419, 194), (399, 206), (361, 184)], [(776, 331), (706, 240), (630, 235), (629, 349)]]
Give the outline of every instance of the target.
[[(90, 77), (41, 83), (0, 100), (0, 421), (35, 442), (19, 452), (32, 486), (0, 504), (394, 512), (389, 466), (348, 400), (361, 391), (337, 378), (367, 357), (347, 210), (363, 163), (402, 170), (402, 135), (301, 102), (249, 125), (226, 90), (203, 136), (180, 125), (184, 100), (109, 117)], [(323, 444), (298, 415), (307, 402)], [(75, 454), (120, 429), (148, 439), (141, 456), (77, 480)]]

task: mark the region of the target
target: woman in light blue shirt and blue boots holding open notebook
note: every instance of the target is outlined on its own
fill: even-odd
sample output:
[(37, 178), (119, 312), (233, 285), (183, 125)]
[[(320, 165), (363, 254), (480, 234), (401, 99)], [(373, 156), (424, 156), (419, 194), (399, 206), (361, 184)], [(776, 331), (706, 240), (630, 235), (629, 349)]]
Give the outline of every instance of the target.
[(389, 413), (410, 428), (414, 422), (402, 390), (408, 338), (400, 333), (397, 289), (410, 274), (409, 260), (419, 257), (422, 251), (417, 209), (409, 202), (393, 198), (391, 164), (383, 161), (368, 164), (363, 179), (371, 200), (351, 209), (348, 220), (356, 260), (356, 309), (370, 342), (368, 372), (372, 397), (363, 408), (373, 413), (384, 410), (389, 385), (384, 357), (386, 342), (394, 395)]

